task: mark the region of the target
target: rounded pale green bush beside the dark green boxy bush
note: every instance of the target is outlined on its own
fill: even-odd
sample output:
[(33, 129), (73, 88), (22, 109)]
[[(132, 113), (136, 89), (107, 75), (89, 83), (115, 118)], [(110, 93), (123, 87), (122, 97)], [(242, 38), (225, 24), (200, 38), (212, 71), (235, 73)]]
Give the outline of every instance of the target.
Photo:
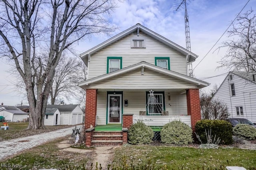
[(162, 143), (188, 145), (192, 143), (192, 129), (181, 121), (172, 121), (163, 126), (160, 132)]

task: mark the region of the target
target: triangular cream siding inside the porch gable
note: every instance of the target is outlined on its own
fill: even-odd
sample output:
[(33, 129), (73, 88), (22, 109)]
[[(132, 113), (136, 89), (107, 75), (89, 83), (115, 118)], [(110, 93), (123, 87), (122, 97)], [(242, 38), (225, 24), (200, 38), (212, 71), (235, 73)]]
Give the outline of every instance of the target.
[(186, 89), (196, 88), (195, 85), (170, 76), (144, 69), (124, 73), (114, 78), (109, 78), (101, 82), (90, 85), (90, 88), (98, 89)]

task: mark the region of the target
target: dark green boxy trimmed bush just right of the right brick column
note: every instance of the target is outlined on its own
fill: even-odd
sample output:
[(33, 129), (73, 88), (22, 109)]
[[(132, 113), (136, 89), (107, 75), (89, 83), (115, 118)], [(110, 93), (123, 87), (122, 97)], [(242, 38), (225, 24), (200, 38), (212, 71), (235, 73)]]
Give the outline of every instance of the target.
[(229, 145), (233, 143), (232, 125), (224, 120), (200, 120), (196, 123), (196, 134), (200, 137), (202, 143), (207, 143), (205, 131), (212, 131), (212, 136), (220, 138), (220, 144)]

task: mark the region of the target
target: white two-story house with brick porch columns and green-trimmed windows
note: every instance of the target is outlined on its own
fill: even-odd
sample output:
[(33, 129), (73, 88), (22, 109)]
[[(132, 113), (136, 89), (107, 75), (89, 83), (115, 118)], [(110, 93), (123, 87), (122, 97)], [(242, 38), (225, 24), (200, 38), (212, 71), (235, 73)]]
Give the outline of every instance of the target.
[(188, 76), (198, 56), (150, 29), (136, 24), (80, 57), (88, 67), (88, 80), (78, 83), (86, 90), (87, 146), (112, 144), (97, 131), (120, 131), (115, 142), (126, 143), (138, 120), (156, 131), (176, 119), (194, 130), (200, 120), (199, 89), (208, 83)]

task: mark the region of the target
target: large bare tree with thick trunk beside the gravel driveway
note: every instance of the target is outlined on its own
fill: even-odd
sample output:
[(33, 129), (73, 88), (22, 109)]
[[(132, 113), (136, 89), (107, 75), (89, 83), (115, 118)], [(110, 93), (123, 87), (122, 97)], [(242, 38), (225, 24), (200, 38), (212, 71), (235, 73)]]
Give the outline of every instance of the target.
[[(106, 15), (115, 7), (114, 0), (0, 1), (0, 54), (14, 60), (26, 86), (28, 129), (45, 129), (46, 105), (62, 53), (92, 33), (114, 31)], [(47, 57), (40, 55), (44, 52)]]

